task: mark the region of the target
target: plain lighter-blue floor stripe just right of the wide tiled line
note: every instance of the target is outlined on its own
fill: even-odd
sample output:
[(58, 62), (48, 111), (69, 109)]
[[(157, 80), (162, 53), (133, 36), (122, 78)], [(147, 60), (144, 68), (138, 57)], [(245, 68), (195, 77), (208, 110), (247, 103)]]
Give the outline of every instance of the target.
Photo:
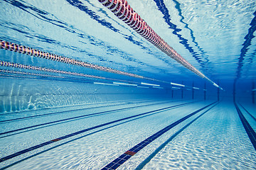
[[(218, 102), (219, 103), (219, 102)], [(216, 105), (218, 105), (218, 103), (216, 103), (214, 106), (208, 108), (207, 111), (201, 113), (201, 115), (198, 115), (198, 117), (196, 117), (195, 119), (193, 119), (190, 123), (188, 123), (187, 125), (183, 126), (183, 128), (181, 128), (180, 130), (178, 130), (178, 132), (174, 133), (174, 135), (172, 135), (168, 140), (166, 140), (166, 142), (164, 142), (162, 145), (160, 145), (152, 154), (149, 155), (149, 157), (147, 157), (146, 159), (144, 159), (144, 161), (142, 163), (140, 163), (136, 169), (134, 170), (141, 170), (144, 168), (144, 166), (149, 163), (151, 161), (152, 158), (154, 158), (156, 156), (156, 154), (158, 154), (161, 149), (164, 149), (164, 147), (166, 147), (167, 144), (169, 144), (169, 142), (171, 142), (171, 140), (174, 139), (174, 137), (176, 137), (178, 134), (180, 134), (183, 130), (185, 130), (186, 128), (188, 128), (189, 125), (191, 125), (192, 123), (194, 123), (196, 120), (198, 120), (198, 118), (200, 118), (202, 115), (206, 114), (208, 111), (210, 111), (210, 109), (214, 108)]]

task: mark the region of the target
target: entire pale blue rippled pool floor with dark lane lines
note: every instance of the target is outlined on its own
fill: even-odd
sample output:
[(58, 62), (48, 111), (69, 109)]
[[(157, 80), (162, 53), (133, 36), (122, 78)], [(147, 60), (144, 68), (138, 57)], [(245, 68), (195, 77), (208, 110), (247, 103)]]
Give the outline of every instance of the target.
[(227, 101), (140, 99), (1, 113), (0, 169), (255, 169), (248, 133), (254, 137), (256, 106), (237, 105), (251, 131)]

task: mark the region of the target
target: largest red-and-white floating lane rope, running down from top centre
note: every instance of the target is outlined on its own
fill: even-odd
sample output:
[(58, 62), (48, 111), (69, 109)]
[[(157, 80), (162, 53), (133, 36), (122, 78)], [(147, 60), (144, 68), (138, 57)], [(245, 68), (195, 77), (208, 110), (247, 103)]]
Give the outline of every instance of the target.
[(174, 50), (170, 45), (168, 45), (159, 35), (157, 35), (154, 30), (144, 21), (138, 13), (136, 13), (131, 6), (127, 3), (126, 0), (98, 0), (103, 6), (107, 7), (114, 13), (117, 18), (127, 23), (127, 25), (134, 29), (139, 35), (142, 35), (143, 38), (151, 42), (154, 46), (159, 48), (166, 55), (176, 60), (176, 62), (183, 65), (187, 69), (194, 72), (199, 77), (210, 81), (213, 86), (222, 89), (220, 86), (215, 84), (213, 81), (208, 79), (203, 73), (198, 69), (193, 67), (188, 61), (186, 61), (181, 55)]

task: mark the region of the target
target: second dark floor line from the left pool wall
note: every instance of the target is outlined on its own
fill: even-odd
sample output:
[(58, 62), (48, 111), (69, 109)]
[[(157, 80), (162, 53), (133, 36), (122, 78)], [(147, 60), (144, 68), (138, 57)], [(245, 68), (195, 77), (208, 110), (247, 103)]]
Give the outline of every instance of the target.
[[(163, 102), (163, 103), (171, 103), (171, 101)], [(192, 103), (192, 102), (190, 102), (190, 103)], [(162, 103), (146, 104), (146, 105), (142, 105), (142, 106), (132, 106), (132, 107), (127, 107), (127, 108), (118, 108), (118, 109), (114, 109), (114, 110), (111, 110), (111, 111), (102, 111), (102, 112), (91, 113), (91, 114), (87, 114), (87, 115), (79, 115), (79, 116), (75, 116), (73, 118), (65, 118), (65, 119), (62, 119), (62, 120), (55, 120), (55, 121), (48, 122), (48, 123), (41, 123), (41, 124), (38, 124), (38, 125), (28, 126), (26, 128), (19, 128), (19, 129), (16, 129), (16, 130), (9, 130), (7, 132), (1, 132), (0, 135), (6, 135), (6, 134), (9, 134), (11, 132), (18, 132), (18, 131), (21, 131), (21, 130), (36, 128), (36, 127), (43, 126), (43, 125), (50, 125), (50, 124), (53, 124), (53, 123), (61, 123), (61, 122), (65, 122), (65, 121), (68, 121), (68, 120), (80, 120), (80, 118), (86, 118), (86, 117), (89, 117), (89, 116), (91, 117), (93, 115), (100, 115), (100, 114), (111, 113), (111, 112), (116, 112), (116, 111), (125, 111), (125, 110), (129, 110), (129, 109), (132, 109), (132, 108), (139, 108), (139, 107), (144, 107), (144, 106), (153, 106), (153, 105), (157, 105), (157, 104), (162, 104)], [(0, 138), (2, 138), (2, 137), (0, 137)]]

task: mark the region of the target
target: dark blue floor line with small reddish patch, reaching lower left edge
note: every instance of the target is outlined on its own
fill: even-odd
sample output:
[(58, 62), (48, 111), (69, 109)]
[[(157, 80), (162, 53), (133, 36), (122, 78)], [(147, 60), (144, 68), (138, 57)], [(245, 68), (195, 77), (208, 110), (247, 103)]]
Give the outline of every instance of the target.
[[(175, 103), (175, 102), (174, 102), (174, 103)], [(145, 114), (149, 114), (149, 113), (153, 113), (153, 112), (158, 112), (158, 111), (164, 111), (164, 110), (166, 110), (166, 109), (173, 108), (174, 105), (175, 105), (174, 103), (172, 103), (171, 106), (170, 106), (170, 104), (169, 104), (169, 107), (165, 107), (165, 108), (159, 108), (159, 107), (163, 107), (163, 106), (161, 106), (161, 104), (159, 104), (158, 106), (154, 106), (155, 108), (158, 108), (158, 109), (155, 109), (154, 111), (150, 110), (150, 111), (148, 111), (148, 112), (146, 112), (146, 113), (145, 113), (145, 112), (142, 113), (142, 110), (140, 110), (140, 111), (139, 111), (140, 114), (134, 114), (134, 115), (130, 115), (130, 116), (128, 116), (128, 117), (127, 117), (127, 115), (125, 115), (125, 116), (126, 116), (126, 117), (125, 117), (123, 114), (121, 114), (122, 117), (124, 117), (124, 118), (120, 118), (119, 120), (116, 120), (116, 118), (115, 118), (115, 120), (112, 120), (112, 121), (110, 121), (110, 122), (108, 122), (108, 123), (103, 123), (102, 125), (96, 125), (96, 126), (94, 126), (94, 127), (87, 128), (87, 129), (85, 129), (85, 130), (80, 130), (80, 131), (78, 131), (78, 132), (73, 132), (73, 133), (71, 133), (71, 134), (69, 134), (69, 135), (65, 135), (65, 136), (63, 136), (63, 137), (58, 137), (58, 138), (53, 139), (53, 140), (50, 140), (50, 141), (48, 141), (48, 142), (43, 142), (43, 143), (41, 143), (41, 144), (39, 144), (39, 145), (36, 145), (36, 146), (33, 146), (33, 147), (29, 147), (28, 149), (23, 149), (23, 150), (21, 150), (20, 152), (16, 152), (16, 153), (14, 153), (14, 154), (10, 154), (10, 155), (7, 156), (7, 157), (2, 157), (1, 161), (4, 162), (4, 161), (6, 161), (6, 160), (8, 160), (8, 159), (11, 159), (11, 158), (14, 158), (14, 157), (18, 157), (18, 156), (21, 155), (21, 154), (25, 154), (26, 152), (30, 152), (30, 151), (32, 151), (33, 149), (37, 149), (37, 148), (39, 148), (39, 147), (43, 147), (43, 146), (46, 146), (46, 145), (50, 145), (50, 144), (53, 143), (53, 142), (58, 142), (59, 140), (63, 140), (63, 139), (66, 139), (66, 138), (68, 138), (68, 137), (72, 137), (72, 136), (74, 136), (74, 135), (78, 135), (78, 134), (80, 134), (80, 133), (82, 133), (82, 132), (86, 132), (86, 131), (88, 131), (88, 130), (92, 130), (92, 129), (95, 129), (95, 128), (100, 128), (100, 127), (102, 127), (102, 126), (110, 125), (110, 124), (112, 124), (112, 123), (117, 123), (117, 122), (122, 121), (122, 120), (127, 120), (127, 119), (130, 119), (130, 118), (135, 118), (135, 117), (137, 117), (137, 116), (141, 116), (141, 115), (145, 115)], [(176, 106), (183, 106), (184, 103), (185, 103), (185, 102), (180, 102), (180, 104), (176, 104)], [(143, 111), (146, 111), (146, 110), (148, 110), (148, 109), (152, 109), (152, 108), (149, 106), (149, 107), (144, 108)], [(130, 111), (129, 111), (129, 112), (130, 112)], [(137, 113), (136, 110), (135, 110), (135, 113)], [(106, 116), (106, 115), (105, 115), (105, 116)], [(104, 116), (104, 118), (105, 118), (105, 116)], [(102, 120), (102, 118), (101, 118), (101, 120)]]

